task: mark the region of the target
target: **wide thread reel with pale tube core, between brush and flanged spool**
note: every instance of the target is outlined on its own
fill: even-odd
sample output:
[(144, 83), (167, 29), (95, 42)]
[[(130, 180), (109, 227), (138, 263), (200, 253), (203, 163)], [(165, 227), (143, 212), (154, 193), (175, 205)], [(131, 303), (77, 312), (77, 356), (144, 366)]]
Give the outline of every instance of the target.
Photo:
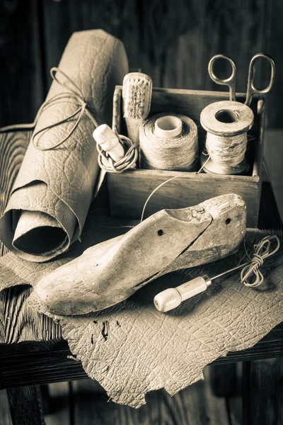
[(159, 113), (139, 128), (142, 169), (196, 171), (197, 125), (185, 115)]

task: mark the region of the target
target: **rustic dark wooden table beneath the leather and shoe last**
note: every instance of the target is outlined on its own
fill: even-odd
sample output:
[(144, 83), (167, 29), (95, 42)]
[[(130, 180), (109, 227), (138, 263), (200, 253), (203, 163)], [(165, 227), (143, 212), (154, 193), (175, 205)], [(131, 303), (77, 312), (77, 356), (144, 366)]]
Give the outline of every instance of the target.
[[(2, 210), (21, 165), (29, 136), (30, 134), (25, 132), (0, 137)], [(4, 162), (7, 155), (11, 157), (11, 161)], [(259, 227), (268, 228), (269, 233), (277, 233), (282, 237), (282, 222), (272, 188), (267, 182), (262, 186)], [(5, 253), (6, 248), (1, 246), (1, 254)], [(29, 293), (30, 288), (22, 285), (0, 293), (0, 389), (7, 389), (13, 423), (25, 423), (23, 422), (25, 411), (27, 423), (32, 425), (43, 423), (41, 403), (38, 402), (41, 398), (38, 385), (83, 379), (87, 378), (87, 375), (81, 363), (68, 357), (71, 356), (71, 352), (67, 341), (62, 339), (59, 324), (55, 324), (49, 317), (37, 314), (25, 304)], [(279, 357), (282, 355), (283, 327), (279, 325), (253, 348), (229, 353), (225, 358), (214, 361), (213, 375), (218, 377), (218, 386), (219, 379), (221, 375), (223, 376), (221, 365), (237, 361), (245, 362), (243, 376), (245, 424), (277, 424)], [(214, 379), (212, 385), (213, 382)], [(35, 399), (37, 402), (34, 402)], [(260, 407), (265, 407), (267, 403), (269, 408), (262, 412)]]

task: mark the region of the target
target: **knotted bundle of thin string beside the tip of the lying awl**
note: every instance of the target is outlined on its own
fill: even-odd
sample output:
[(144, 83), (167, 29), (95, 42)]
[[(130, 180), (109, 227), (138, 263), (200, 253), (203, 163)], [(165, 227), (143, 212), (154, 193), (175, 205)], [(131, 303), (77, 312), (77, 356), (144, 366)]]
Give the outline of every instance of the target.
[[(271, 242), (273, 239), (276, 240), (277, 246), (275, 246), (275, 249), (270, 251)], [(253, 253), (252, 258), (250, 258), (248, 253), (246, 253), (250, 258), (250, 263), (248, 263), (241, 270), (241, 283), (251, 288), (255, 288), (256, 286), (261, 285), (264, 280), (264, 277), (262, 275), (262, 272), (260, 271), (260, 266), (262, 266), (263, 261), (267, 259), (267, 257), (272, 256), (273, 254), (275, 254), (275, 252), (278, 251), (279, 246), (279, 238), (275, 235), (264, 237), (258, 244), (255, 244), (255, 252)], [(252, 276), (254, 280), (250, 281), (250, 278)]]

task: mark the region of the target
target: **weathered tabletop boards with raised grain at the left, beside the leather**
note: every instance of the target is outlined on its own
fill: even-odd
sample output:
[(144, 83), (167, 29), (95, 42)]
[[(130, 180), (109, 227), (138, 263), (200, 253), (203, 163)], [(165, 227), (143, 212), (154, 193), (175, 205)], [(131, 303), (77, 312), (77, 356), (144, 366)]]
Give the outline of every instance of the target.
[[(4, 212), (30, 135), (30, 131), (0, 134), (0, 215)], [(0, 242), (0, 254), (7, 252)], [(22, 286), (0, 293), (0, 341), (11, 343), (61, 335), (58, 325), (51, 319), (40, 317), (33, 309), (25, 307), (25, 298), (29, 293), (30, 289)]]

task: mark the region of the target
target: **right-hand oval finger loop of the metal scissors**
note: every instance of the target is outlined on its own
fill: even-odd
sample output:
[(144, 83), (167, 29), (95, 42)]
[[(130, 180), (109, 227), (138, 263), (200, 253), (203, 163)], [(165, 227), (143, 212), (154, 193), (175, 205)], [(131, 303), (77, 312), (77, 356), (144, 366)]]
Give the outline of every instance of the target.
[[(255, 84), (253, 83), (255, 79), (255, 62), (260, 59), (266, 59), (270, 62), (270, 82), (265, 89), (257, 89)], [(265, 53), (257, 53), (257, 55), (253, 56), (250, 61), (250, 66), (248, 67), (248, 85), (247, 85), (247, 97), (245, 104), (250, 106), (252, 102), (254, 94), (267, 94), (272, 89), (273, 83), (275, 80), (275, 62), (270, 55)]]

